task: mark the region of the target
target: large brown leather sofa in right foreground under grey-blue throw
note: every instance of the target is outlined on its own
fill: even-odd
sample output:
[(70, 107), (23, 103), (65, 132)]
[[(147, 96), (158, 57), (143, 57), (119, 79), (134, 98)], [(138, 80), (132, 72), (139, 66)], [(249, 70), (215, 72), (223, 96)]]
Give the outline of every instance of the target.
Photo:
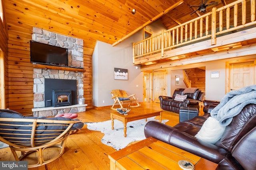
[[(205, 103), (208, 101), (204, 101)], [(212, 104), (210, 104), (210, 102)], [(218, 102), (209, 101), (205, 114), (170, 127), (149, 121), (144, 129), (146, 137), (153, 137), (170, 145), (217, 163), (218, 170), (255, 170), (256, 165), (256, 104), (246, 105), (226, 126), (222, 138), (215, 144), (194, 137), (210, 111)]]

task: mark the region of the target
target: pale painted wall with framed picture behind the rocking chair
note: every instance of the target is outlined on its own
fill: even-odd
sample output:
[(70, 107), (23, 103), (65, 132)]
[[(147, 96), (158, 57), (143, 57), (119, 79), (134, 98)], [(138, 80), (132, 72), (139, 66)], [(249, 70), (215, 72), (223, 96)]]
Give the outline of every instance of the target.
[[(92, 105), (112, 106), (114, 100), (111, 90), (125, 90), (128, 95), (136, 94), (138, 102), (143, 102), (143, 73), (140, 66), (132, 63), (132, 42), (142, 39), (142, 32), (130, 37), (124, 42), (112, 45), (98, 41), (92, 55)], [(128, 69), (128, 80), (114, 80), (114, 68)], [(137, 87), (138, 85), (138, 87)]]

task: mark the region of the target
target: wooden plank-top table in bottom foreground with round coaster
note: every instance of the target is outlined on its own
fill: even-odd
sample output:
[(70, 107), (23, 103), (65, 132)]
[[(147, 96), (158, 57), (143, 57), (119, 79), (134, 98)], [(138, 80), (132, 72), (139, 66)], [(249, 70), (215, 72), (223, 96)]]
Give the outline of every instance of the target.
[(110, 155), (110, 170), (181, 170), (179, 160), (188, 160), (195, 170), (216, 170), (218, 164), (154, 138), (118, 150)]

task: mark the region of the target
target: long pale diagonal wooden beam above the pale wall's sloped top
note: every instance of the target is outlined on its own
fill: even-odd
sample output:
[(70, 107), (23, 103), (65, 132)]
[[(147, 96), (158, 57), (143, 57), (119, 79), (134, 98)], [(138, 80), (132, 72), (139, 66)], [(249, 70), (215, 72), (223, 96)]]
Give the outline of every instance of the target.
[(163, 12), (161, 12), (160, 14), (158, 14), (157, 16), (155, 16), (154, 18), (152, 18), (151, 20), (147, 21), (146, 23), (144, 23), (143, 25), (141, 25), (140, 27), (138, 27), (137, 29), (135, 29), (134, 31), (130, 32), (129, 34), (127, 34), (126, 36), (122, 37), (121, 39), (119, 39), (118, 41), (116, 41), (115, 43), (112, 44), (112, 46), (114, 47), (115, 45), (118, 45), (119, 43), (121, 43), (122, 41), (126, 40), (127, 38), (129, 38), (130, 36), (134, 35), (136, 32), (140, 31), (140, 29), (144, 28), (145, 26), (149, 25), (150, 23), (154, 22), (155, 20), (157, 20), (158, 18), (160, 18), (161, 16), (163, 16), (164, 14), (170, 12), (171, 10), (173, 10), (174, 8), (176, 8), (177, 6), (179, 6), (180, 4), (182, 4), (184, 1), (180, 0), (179, 2), (177, 2), (176, 4), (172, 5), (170, 8), (167, 8), (166, 10), (164, 10)]

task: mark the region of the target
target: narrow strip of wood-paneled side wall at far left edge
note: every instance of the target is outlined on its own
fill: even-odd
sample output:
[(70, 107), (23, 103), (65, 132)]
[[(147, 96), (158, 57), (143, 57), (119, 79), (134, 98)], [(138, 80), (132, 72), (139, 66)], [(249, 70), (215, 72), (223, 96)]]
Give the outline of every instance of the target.
[[(0, 89), (0, 109), (5, 109), (8, 107), (8, 49), (7, 49), (7, 41), (8, 41), (8, 33), (7, 33), (7, 26), (6, 26), (6, 17), (5, 17), (5, 10), (4, 10), (4, 4), (3, 6), (3, 12), (4, 12), (4, 21), (0, 19), (0, 49), (2, 51), (2, 56), (4, 57), (4, 62), (0, 62), (0, 69), (4, 72), (4, 76), (2, 77), (1, 74), (1, 81), (0, 86), (4, 86), (4, 89)], [(2, 106), (3, 105), (3, 106)]]

